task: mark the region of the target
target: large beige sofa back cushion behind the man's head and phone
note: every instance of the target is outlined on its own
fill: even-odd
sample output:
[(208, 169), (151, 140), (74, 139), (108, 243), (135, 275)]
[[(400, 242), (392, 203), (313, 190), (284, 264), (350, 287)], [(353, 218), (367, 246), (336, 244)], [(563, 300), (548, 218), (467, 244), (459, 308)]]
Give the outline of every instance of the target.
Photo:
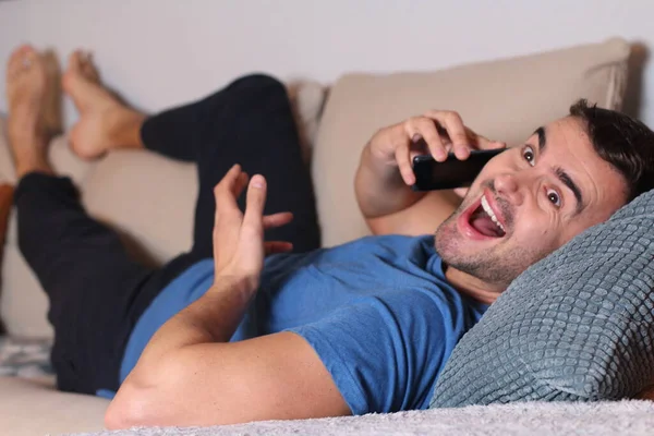
[(323, 243), (368, 233), (353, 180), (376, 130), (428, 109), (451, 109), (477, 133), (516, 144), (566, 116), (579, 98), (619, 108), (629, 52), (626, 41), (611, 39), (437, 72), (343, 76), (330, 92), (312, 165)]

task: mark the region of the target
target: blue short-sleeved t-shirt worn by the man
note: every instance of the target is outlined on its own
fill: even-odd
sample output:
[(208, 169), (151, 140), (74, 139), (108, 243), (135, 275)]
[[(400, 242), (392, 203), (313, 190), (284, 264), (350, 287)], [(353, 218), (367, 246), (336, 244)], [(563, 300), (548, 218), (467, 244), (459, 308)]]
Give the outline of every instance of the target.
[[(206, 259), (161, 291), (132, 331), (121, 383), (155, 331), (213, 282), (214, 262)], [(487, 308), (447, 282), (434, 237), (370, 237), (274, 255), (261, 283), (231, 340), (300, 335), (353, 414), (426, 409), (456, 343)]]

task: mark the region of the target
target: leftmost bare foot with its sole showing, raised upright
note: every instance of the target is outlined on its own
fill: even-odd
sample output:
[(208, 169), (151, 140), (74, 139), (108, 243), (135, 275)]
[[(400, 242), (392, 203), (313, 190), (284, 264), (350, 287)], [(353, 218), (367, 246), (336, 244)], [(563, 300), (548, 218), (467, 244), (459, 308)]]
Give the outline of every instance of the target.
[(17, 178), (28, 172), (52, 173), (48, 164), (50, 141), (43, 121), (48, 92), (46, 66), (32, 46), (14, 50), (7, 64), (8, 136)]

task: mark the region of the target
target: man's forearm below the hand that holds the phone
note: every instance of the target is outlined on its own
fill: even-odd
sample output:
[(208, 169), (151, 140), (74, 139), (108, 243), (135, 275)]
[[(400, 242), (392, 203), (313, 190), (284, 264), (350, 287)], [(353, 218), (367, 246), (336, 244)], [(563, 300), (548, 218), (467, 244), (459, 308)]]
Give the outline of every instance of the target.
[(404, 183), (396, 165), (375, 158), (370, 144), (361, 155), (354, 191), (359, 207), (367, 219), (398, 213), (425, 196), (425, 193), (413, 192)]

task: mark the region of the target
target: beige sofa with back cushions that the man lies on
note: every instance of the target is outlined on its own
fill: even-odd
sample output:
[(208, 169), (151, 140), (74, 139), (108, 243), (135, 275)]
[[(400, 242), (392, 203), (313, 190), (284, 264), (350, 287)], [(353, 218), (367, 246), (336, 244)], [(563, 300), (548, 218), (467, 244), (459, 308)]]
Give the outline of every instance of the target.
[[(611, 39), (438, 72), (349, 74), (325, 93), (328, 98), (319, 120), (316, 109), (322, 107), (323, 93), (315, 86), (301, 87), (296, 100), (302, 128), (312, 136), (319, 124), (310, 142), (324, 244), (367, 233), (352, 181), (360, 150), (378, 128), (427, 109), (447, 108), (458, 110), (475, 131), (518, 144), (536, 126), (565, 116), (580, 97), (620, 107), (629, 53), (626, 41)], [(83, 162), (70, 153), (65, 137), (53, 141), (51, 158), (58, 171), (77, 183), (90, 214), (136, 241), (140, 252), (165, 262), (190, 246), (197, 191), (192, 165), (146, 152), (117, 152)], [(0, 179), (14, 180), (2, 140)], [(44, 295), (17, 250), (14, 216), (4, 247), (0, 298), (0, 314), (10, 335), (51, 336)], [(99, 431), (107, 404), (99, 398), (58, 392), (52, 378), (0, 377), (0, 434)]]

